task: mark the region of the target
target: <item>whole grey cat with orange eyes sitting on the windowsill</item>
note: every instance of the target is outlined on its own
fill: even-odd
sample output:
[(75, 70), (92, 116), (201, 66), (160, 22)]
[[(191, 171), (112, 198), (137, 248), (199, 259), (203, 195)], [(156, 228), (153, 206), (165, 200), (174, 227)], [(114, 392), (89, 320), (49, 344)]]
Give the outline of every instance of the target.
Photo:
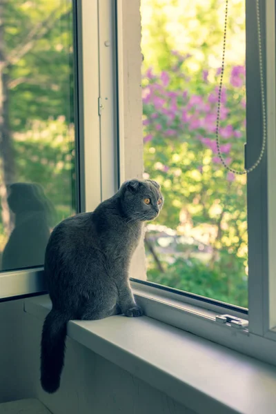
[(93, 213), (65, 219), (53, 230), (45, 256), (52, 311), (41, 338), (41, 385), (48, 393), (59, 388), (70, 319), (143, 314), (128, 270), (143, 222), (159, 215), (163, 201), (156, 181), (132, 179)]

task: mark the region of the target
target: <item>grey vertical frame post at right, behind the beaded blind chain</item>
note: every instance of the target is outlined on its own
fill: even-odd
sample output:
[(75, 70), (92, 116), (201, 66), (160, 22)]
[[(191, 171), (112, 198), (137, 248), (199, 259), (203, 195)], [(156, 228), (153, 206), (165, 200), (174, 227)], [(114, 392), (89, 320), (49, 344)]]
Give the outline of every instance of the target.
[[(265, 0), (259, 0), (262, 25), (263, 70), (266, 75)], [(246, 0), (246, 166), (252, 166), (262, 147), (262, 101), (255, 3)], [(267, 285), (267, 173), (266, 152), (248, 174), (248, 308), (249, 330), (264, 335), (264, 297)]]

